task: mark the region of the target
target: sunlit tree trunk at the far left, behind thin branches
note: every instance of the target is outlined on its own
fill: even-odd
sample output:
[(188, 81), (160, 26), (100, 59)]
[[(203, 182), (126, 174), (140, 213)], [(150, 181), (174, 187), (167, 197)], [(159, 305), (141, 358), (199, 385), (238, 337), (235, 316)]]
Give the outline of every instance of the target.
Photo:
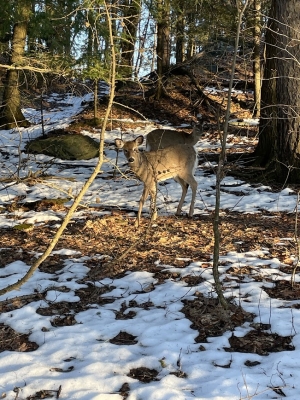
[[(13, 28), (10, 64), (20, 66), (23, 61), (24, 47), (27, 33), (27, 23), (31, 12), (31, 3), (18, 3), (18, 22)], [(2, 129), (12, 129), (16, 126), (28, 126), (29, 122), (21, 110), (21, 96), (19, 91), (20, 75), (17, 69), (8, 69), (5, 79), (2, 105), (0, 108), (0, 126)]]

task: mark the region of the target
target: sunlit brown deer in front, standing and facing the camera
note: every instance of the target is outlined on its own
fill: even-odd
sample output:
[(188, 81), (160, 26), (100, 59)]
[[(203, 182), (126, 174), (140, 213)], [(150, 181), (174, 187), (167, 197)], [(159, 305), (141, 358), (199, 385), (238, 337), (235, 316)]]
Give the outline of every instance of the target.
[(117, 149), (123, 149), (124, 151), (129, 168), (144, 183), (135, 226), (139, 227), (140, 225), (143, 205), (149, 194), (151, 221), (156, 220), (157, 184), (169, 178), (174, 178), (182, 188), (182, 195), (175, 215), (181, 215), (188, 187), (191, 187), (192, 200), (188, 214), (191, 218), (194, 214), (197, 191), (197, 181), (194, 177), (197, 154), (194, 146), (190, 144), (176, 144), (165, 149), (141, 152), (138, 147), (143, 144), (143, 141), (144, 136), (142, 135), (129, 141), (115, 139)]

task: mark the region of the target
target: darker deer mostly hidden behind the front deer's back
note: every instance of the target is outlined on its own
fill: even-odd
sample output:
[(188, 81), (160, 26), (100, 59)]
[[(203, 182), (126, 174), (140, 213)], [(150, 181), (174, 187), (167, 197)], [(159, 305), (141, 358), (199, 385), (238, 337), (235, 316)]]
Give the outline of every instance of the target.
[(192, 122), (192, 126), (192, 133), (173, 129), (154, 129), (147, 135), (147, 150), (165, 149), (174, 144), (189, 144), (195, 146), (203, 134), (203, 125)]

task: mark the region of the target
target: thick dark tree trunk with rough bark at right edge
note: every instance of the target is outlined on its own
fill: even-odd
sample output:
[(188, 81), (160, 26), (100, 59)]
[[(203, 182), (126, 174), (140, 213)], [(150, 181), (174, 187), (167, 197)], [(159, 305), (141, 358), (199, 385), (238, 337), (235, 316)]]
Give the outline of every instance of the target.
[(272, 0), (255, 155), (278, 182), (300, 183), (299, 17), (299, 0)]

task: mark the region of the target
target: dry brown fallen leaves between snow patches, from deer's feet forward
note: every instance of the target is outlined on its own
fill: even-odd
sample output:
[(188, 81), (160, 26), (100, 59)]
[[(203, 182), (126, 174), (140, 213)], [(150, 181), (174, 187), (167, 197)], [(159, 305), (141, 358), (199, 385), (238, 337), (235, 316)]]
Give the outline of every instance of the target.
[[(178, 268), (185, 267), (192, 261), (201, 261), (210, 266), (211, 254), (213, 252), (213, 230), (212, 215), (196, 215), (193, 219), (186, 217), (159, 217), (155, 227), (149, 228), (149, 219), (144, 218), (139, 229), (134, 227), (134, 218), (129, 217), (126, 212), (112, 212), (112, 215), (87, 220), (86, 222), (72, 222), (68, 225), (62, 236), (57, 249), (73, 249), (80, 251), (82, 255), (88, 256), (86, 265), (90, 268), (85, 281), (96, 281), (105, 277), (122, 276), (126, 271), (138, 270), (149, 271), (160, 284), (165, 279), (181, 279), (188, 286), (197, 285), (203, 279), (199, 276), (184, 276), (176, 272), (160, 270), (157, 263), (161, 265), (172, 265)], [(285, 262), (294, 254), (293, 232), (294, 219), (292, 215), (277, 214), (237, 214), (228, 213), (220, 220), (221, 229), (221, 251), (246, 252), (265, 247), (269, 250), (268, 257), (277, 257)], [(35, 252), (42, 252), (49, 244), (55, 230), (51, 225), (35, 228), (32, 232), (16, 232), (14, 230), (2, 230), (2, 250), (0, 251), (1, 266), (5, 266), (15, 260), (22, 260), (30, 264)], [(280, 242), (280, 238), (290, 238), (290, 241)], [(132, 250), (128, 255), (118, 261), (130, 246)], [(18, 248), (19, 251), (14, 251)], [(103, 257), (99, 257), (103, 256)], [(62, 268), (63, 261), (67, 256), (53, 255), (41, 266), (40, 270), (54, 273)], [(113, 261), (113, 264), (110, 262)], [(292, 265), (285, 265), (285, 272), (291, 272)], [(241, 274), (241, 269), (228, 269), (235, 277)], [(244, 271), (248, 273), (249, 271)], [(81, 288), (76, 292), (80, 297), (77, 303), (60, 302), (49, 307), (40, 308), (38, 313), (51, 316), (51, 324), (54, 327), (76, 324), (76, 313), (85, 310), (94, 304), (106, 304), (114, 301), (110, 297), (101, 297), (108, 293), (112, 287), (95, 287), (90, 284), (87, 288)], [(68, 288), (61, 286), (61, 291)], [(144, 289), (143, 289), (144, 290)], [(146, 290), (146, 289), (145, 289)], [(147, 288), (153, 290), (153, 287)], [(300, 297), (300, 289), (297, 284), (291, 288), (289, 282), (278, 281), (273, 289), (265, 289), (271, 297), (295, 299)], [(11, 311), (23, 307), (31, 301), (41, 300), (45, 293), (34, 293), (31, 296), (22, 296), (0, 304), (2, 312)], [(134, 318), (135, 312), (132, 307), (151, 308), (152, 304), (128, 304), (121, 305), (116, 312), (117, 319)], [(251, 321), (252, 315), (238, 307), (231, 306), (225, 312), (215, 299), (204, 298), (197, 294), (192, 301), (184, 301), (182, 312), (190, 319), (191, 326), (198, 330), (197, 342), (205, 345), (208, 336), (222, 335), (226, 330), (233, 330), (245, 321)], [(28, 341), (28, 336), (18, 334), (11, 328), (1, 325), (0, 327), (0, 351), (33, 351), (37, 345)], [(111, 343), (134, 344), (136, 338), (126, 332), (120, 332)], [(232, 336), (228, 351), (255, 352), (267, 354), (270, 351), (281, 351), (292, 349), (291, 338), (282, 338), (264, 332), (262, 327), (255, 328), (244, 338)], [(203, 345), (200, 346), (205, 350)], [(155, 379), (155, 373), (137, 369), (132, 371), (136, 379)], [(124, 391), (124, 396), (126, 391)], [(124, 397), (125, 398), (125, 397)]]

